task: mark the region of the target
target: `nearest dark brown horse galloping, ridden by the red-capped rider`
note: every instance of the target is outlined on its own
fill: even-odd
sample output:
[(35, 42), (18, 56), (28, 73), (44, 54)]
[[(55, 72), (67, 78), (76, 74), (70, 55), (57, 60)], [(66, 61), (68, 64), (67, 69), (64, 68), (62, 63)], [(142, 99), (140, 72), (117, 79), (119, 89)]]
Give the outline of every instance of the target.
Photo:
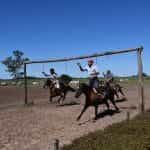
[(83, 113), (86, 111), (86, 109), (89, 106), (94, 106), (95, 107), (95, 120), (97, 120), (97, 110), (98, 110), (98, 105), (99, 104), (106, 104), (107, 109), (109, 110), (109, 103), (108, 100), (112, 102), (114, 105), (116, 111), (119, 111), (119, 108), (117, 107), (115, 101), (114, 101), (114, 89), (112, 89), (109, 85), (106, 85), (104, 87), (104, 92), (106, 92), (105, 96), (102, 95), (97, 95), (93, 93), (93, 90), (86, 84), (81, 84), (79, 89), (77, 90), (75, 97), (78, 98), (80, 97), (81, 94), (85, 95), (85, 105), (83, 110), (81, 111), (80, 115), (77, 118), (77, 121), (80, 120), (81, 116)]

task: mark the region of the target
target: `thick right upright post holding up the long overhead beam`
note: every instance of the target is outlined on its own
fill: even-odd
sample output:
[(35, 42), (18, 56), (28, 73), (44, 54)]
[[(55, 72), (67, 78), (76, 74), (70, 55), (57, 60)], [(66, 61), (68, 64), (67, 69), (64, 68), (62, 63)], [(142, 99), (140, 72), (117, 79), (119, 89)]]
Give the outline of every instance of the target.
[(137, 60), (138, 60), (138, 94), (139, 94), (139, 110), (140, 112), (145, 111), (144, 102), (144, 83), (143, 83), (143, 64), (142, 64), (142, 53), (143, 47), (137, 50)]

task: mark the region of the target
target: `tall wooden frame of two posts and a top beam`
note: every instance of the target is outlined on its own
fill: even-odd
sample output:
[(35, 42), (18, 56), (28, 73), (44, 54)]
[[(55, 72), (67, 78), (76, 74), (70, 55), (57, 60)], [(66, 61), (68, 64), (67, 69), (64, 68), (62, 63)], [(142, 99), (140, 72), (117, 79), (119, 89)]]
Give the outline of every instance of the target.
[(28, 86), (27, 86), (27, 65), (35, 63), (54, 63), (54, 62), (65, 62), (79, 59), (86, 59), (92, 57), (101, 57), (106, 55), (114, 55), (121, 53), (137, 52), (137, 64), (138, 64), (138, 93), (139, 93), (139, 110), (144, 112), (145, 103), (144, 103), (144, 83), (143, 83), (143, 64), (142, 64), (142, 51), (143, 47), (130, 48), (130, 49), (121, 49), (113, 51), (105, 51), (100, 53), (94, 53), (92, 55), (77, 56), (77, 57), (68, 57), (61, 59), (47, 59), (47, 60), (33, 60), (24, 62), (24, 89), (25, 89), (25, 104), (28, 104)]

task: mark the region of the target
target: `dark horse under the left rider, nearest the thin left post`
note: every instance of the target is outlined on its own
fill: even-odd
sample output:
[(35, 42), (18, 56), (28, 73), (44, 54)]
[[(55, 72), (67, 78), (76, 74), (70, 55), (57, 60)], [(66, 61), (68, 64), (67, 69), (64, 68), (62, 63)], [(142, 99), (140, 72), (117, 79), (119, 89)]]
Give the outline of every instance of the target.
[(62, 82), (60, 82), (60, 88), (56, 88), (53, 82), (48, 79), (46, 81), (46, 86), (49, 87), (49, 101), (52, 102), (53, 97), (59, 96), (58, 103), (62, 101), (64, 102), (66, 95), (69, 91), (75, 92), (75, 89), (73, 89), (71, 86), (66, 85)]

